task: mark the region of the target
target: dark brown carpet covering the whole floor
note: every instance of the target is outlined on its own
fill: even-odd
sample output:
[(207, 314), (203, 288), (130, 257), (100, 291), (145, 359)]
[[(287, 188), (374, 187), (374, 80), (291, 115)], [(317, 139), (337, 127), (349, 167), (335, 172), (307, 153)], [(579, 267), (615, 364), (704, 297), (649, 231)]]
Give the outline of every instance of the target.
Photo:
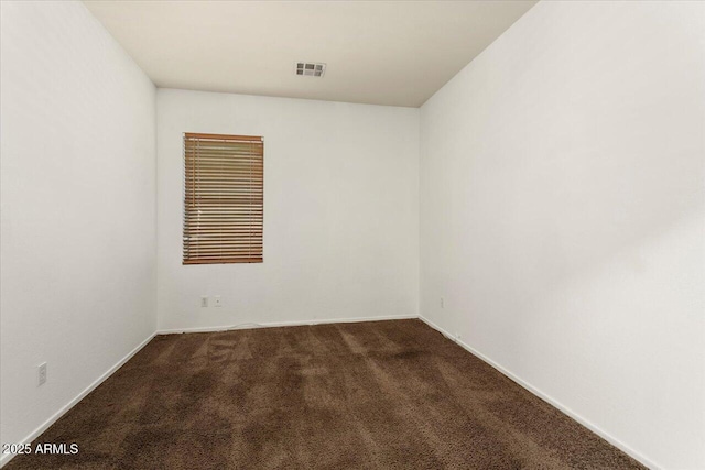
[(642, 468), (420, 320), (154, 338), (15, 469)]

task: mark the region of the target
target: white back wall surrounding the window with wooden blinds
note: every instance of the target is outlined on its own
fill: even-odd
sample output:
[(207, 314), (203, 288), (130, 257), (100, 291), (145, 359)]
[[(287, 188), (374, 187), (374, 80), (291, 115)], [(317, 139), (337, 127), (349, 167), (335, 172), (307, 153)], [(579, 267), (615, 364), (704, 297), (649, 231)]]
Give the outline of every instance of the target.
[[(172, 89), (156, 102), (160, 329), (417, 315), (419, 109)], [(183, 132), (264, 136), (262, 264), (182, 265)]]

